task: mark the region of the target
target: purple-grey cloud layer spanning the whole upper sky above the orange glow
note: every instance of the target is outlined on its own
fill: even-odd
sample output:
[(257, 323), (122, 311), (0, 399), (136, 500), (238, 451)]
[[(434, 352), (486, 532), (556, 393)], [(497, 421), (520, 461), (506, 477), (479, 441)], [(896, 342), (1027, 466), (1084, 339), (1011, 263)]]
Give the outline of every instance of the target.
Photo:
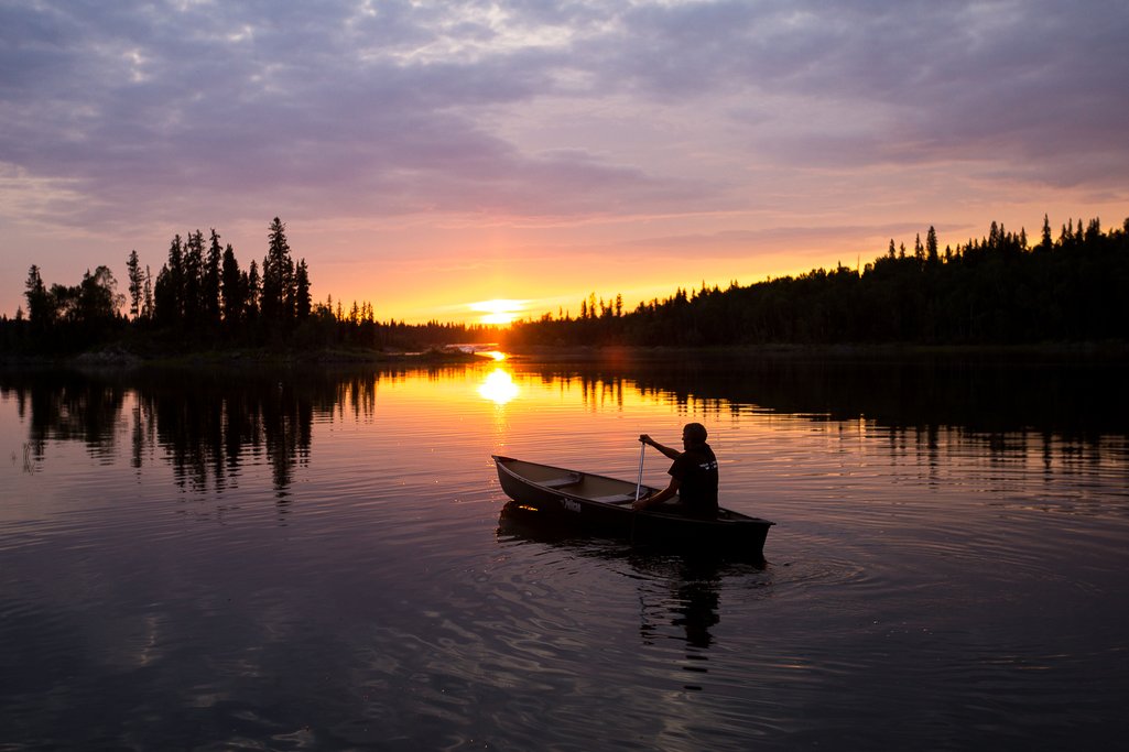
[(946, 163), (1117, 191), (1127, 36), (1105, 0), (7, 3), (0, 167), (21, 219), (103, 226), (668, 216)]

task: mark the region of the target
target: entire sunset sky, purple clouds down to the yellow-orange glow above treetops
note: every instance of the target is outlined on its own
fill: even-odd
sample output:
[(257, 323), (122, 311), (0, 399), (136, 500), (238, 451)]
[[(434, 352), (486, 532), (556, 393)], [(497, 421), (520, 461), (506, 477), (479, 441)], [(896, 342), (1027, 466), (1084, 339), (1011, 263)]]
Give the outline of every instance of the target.
[(287, 224), (379, 320), (1129, 216), (1124, 0), (0, 0), (0, 313)]

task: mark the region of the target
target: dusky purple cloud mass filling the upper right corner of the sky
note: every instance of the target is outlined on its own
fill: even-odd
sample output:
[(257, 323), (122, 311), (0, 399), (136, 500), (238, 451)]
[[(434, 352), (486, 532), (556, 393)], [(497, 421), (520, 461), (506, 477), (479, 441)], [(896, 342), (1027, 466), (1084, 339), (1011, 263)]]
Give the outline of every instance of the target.
[(1049, 184), (1097, 154), (1100, 180), (1129, 166), (1124, 3), (640, 3), (621, 26), (580, 47), (599, 86), (728, 117), (750, 158), (1010, 161)]

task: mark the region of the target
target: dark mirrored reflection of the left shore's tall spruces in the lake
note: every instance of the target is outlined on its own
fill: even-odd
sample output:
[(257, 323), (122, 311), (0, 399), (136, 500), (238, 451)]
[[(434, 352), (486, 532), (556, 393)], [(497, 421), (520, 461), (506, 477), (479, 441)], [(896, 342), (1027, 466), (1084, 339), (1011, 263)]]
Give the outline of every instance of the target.
[(382, 377), (396, 374), (35, 371), (8, 374), (0, 388), (27, 419), (36, 460), (49, 440), (111, 457), (128, 436), (133, 467), (168, 462), (182, 488), (222, 491), (243, 465), (264, 458), (285, 496), (309, 458), (314, 416), (370, 419)]

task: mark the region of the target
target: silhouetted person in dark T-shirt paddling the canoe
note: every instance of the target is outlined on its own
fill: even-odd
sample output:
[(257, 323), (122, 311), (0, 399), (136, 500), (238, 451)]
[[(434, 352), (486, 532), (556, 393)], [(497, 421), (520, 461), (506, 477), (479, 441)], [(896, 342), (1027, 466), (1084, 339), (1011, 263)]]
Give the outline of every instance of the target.
[(675, 508), (683, 514), (691, 517), (716, 517), (717, 457), (706, 443), (706, 427), (701, 423), (686, 423), (682, 429), (682, 452), (663, 446), (646, 434), (640, 436), (640, 441), (655, 447), (673, 460), (674, 464), (666, 471), (671, 475), (671, 484), (662, 491), (642, 497), (631, 508), (646, 509), (677, 495)]

